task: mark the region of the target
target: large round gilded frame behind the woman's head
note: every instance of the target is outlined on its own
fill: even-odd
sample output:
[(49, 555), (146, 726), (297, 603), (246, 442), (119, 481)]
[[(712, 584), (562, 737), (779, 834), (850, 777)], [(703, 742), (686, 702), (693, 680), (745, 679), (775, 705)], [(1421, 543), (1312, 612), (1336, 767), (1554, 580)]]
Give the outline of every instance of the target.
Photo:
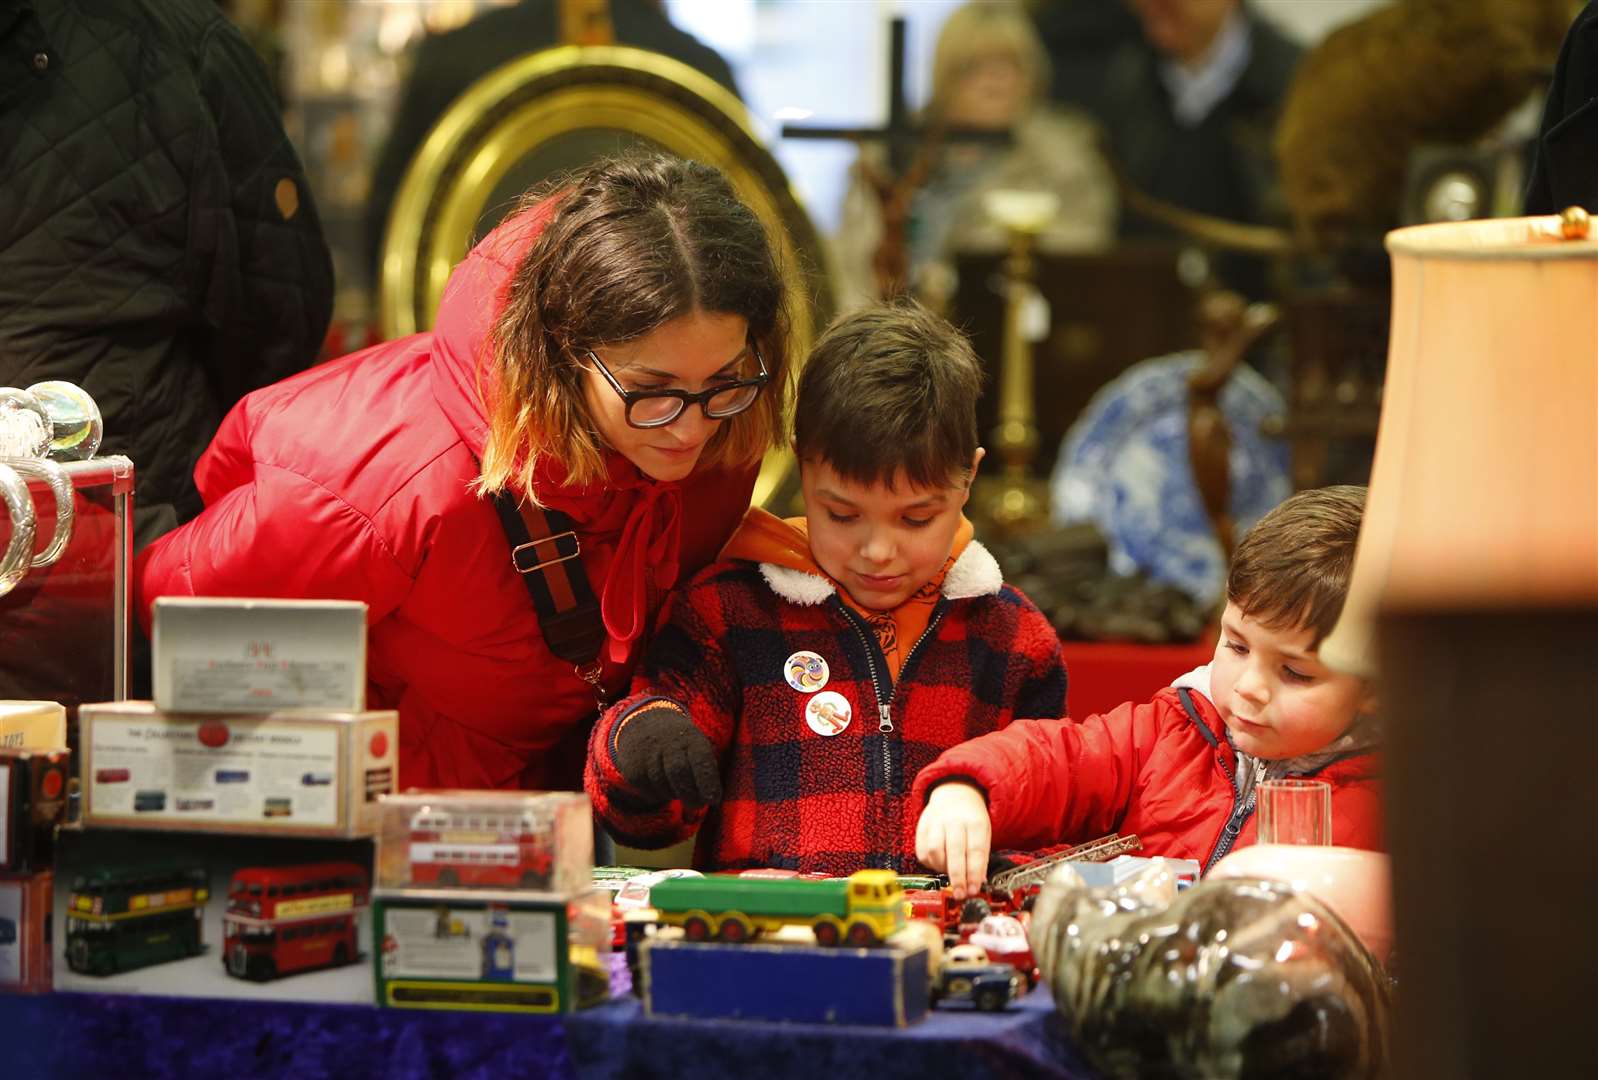
[[(384, 336), (431, 324), (451, 270), (523, 190), (639, 145), (716, 166), (765, 225), (788, 292), (797, 369), (833, 310), (815, 225), (735, 96), (679, 61), (626, 46), (518, 58), (473, 83), (439, 118), (388, 216)], [(791, 487), (793, 473), (791, 451), (769, 452), (756, 503)]]

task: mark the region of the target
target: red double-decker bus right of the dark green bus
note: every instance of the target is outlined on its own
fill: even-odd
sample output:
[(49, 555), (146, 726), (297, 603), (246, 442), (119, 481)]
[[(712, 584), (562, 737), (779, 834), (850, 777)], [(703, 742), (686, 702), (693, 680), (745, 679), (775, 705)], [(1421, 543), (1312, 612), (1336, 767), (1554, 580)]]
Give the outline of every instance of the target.
[(254, 981), (352, 963), (371, 882), (355, 863), (248, 866), (233, 874), (222, 915), (222, 963)]

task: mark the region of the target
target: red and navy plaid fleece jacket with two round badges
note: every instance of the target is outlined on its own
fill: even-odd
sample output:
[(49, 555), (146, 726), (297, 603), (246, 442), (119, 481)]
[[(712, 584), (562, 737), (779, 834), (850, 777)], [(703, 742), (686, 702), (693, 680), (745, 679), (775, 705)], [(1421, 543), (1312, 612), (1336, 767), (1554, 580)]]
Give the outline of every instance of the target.
[[(770, 562), (708, 567), (671, 598), (633, 692), (594, 725), (586, 788), (596, 812), (633, 847), (698, 829), (702, 869), (916, 869), (916, 773), (1016, 717), (1066, 711), (1059, 639), (1004, 585), (986, 548), (967, 545), (941, 593), (895, 684), (866, 620), (831, 580)], [(789, 685), (797, 652), (826, 661), (825, 685)], [(849, 705), (847, 725), (831, 735), (805, 714), (826, 692)], [(617, 727), (657, 698), (681, 705), (721, 756), (721, 805), (646, 805), (617, 770)]]

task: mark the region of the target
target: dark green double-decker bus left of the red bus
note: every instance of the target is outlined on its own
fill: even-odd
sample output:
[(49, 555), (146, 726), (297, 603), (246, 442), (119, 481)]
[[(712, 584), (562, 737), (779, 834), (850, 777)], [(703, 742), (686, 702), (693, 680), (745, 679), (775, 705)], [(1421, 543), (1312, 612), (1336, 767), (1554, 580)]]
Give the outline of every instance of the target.
[(201, 866), (102, 869), (78, 877), (67, 896), (67, 967), (80, 975), (113, 975), (200, 955), (209, 898)]

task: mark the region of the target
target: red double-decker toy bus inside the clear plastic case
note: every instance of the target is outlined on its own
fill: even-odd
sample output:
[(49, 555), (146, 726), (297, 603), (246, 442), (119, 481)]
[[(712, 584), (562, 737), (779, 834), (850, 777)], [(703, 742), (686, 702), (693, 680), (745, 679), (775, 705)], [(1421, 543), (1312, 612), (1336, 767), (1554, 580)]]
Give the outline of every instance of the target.
[(411, 818), (411, 883), (548, 888), (548, 829), (526, 808), (425, 807)]

